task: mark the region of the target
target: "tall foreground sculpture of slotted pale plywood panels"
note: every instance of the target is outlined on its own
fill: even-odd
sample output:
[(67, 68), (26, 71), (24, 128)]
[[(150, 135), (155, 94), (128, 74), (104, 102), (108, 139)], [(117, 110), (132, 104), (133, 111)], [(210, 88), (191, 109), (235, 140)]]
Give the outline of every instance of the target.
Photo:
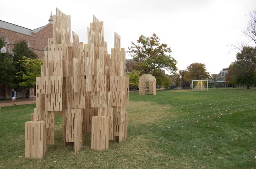
[(36, 78), (36, 108), (25, 123), (25, 157), (42, 158), (54, 144), (55, 113), (63, 117), (64, 143), (83, 146), (83, 132), (91, 133), (93, 150), (108, 149), (109, 140), (127, 138), (129, 78), (125, 49), (115, 33), (115, 47), (107, 52), (103, 22), (93, 15), (88, 44), (72, 32), (70, 15), (56, 9), (53, 38), (48, 39), (41, 76)]

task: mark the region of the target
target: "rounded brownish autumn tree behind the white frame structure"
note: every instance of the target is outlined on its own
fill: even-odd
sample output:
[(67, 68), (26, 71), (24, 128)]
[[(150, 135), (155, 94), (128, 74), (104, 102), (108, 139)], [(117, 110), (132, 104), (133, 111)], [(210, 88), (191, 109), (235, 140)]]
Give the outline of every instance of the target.
[(205, 65), (203, 63), (192, 63), (187, 67), (188, 80), (201, 80), (209, 78), (209, 73), (206, 72)]

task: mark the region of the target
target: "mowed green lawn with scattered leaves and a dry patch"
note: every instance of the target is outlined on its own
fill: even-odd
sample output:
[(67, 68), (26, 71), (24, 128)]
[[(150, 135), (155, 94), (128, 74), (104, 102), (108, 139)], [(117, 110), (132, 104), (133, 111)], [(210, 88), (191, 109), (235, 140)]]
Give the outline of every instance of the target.
[(0, 110), (0, 168), (256, 168), (256, 89), (130, 93), (128, 139), (109, 150), (64, 146), (62, 118), (43, 159), (19, 158), (34, 104)]

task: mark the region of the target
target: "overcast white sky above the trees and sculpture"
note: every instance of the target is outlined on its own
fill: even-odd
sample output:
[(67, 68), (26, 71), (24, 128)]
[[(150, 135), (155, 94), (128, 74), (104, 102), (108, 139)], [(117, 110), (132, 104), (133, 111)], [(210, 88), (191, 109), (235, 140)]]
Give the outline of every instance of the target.
[[(104, 21), (108, 53), (114, 46), (115, 31), (126, 51), (141, 34), (156, 33), (171, 47), (179, 70), (200, 62), (208, 72), (218, 74), (235, 61), (237, 51), (230, 45), (241, 41), (241, 30), (248, 13), (256, 8), (256, 0), (8, 0), (0, 6), (0, 20), (29, 29), (47, 24), (57, 7), (71, 15), (71, 30), (84, 43), (94, 14)], [(126, 58), (131, 58), (128, 53)]]

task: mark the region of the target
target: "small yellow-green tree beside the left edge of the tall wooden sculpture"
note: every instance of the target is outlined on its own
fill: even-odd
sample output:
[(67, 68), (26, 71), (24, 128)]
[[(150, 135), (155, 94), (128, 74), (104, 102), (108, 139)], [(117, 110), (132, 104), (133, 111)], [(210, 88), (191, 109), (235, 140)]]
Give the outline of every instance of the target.
[(23, 67), (23, 70), (25, 70), (17, 72), (17, 75), (23, 80), (19, 82), (18, 85), (22, 87), (23, 98), (25, 98), (29, 87), (36, 85), (36, 77), (41, 76), (40, 66), (43, 65), (43, 61), (41, 59), (30, 59), (23, 56), (22, 60), (18, 60), (18, 63)]

